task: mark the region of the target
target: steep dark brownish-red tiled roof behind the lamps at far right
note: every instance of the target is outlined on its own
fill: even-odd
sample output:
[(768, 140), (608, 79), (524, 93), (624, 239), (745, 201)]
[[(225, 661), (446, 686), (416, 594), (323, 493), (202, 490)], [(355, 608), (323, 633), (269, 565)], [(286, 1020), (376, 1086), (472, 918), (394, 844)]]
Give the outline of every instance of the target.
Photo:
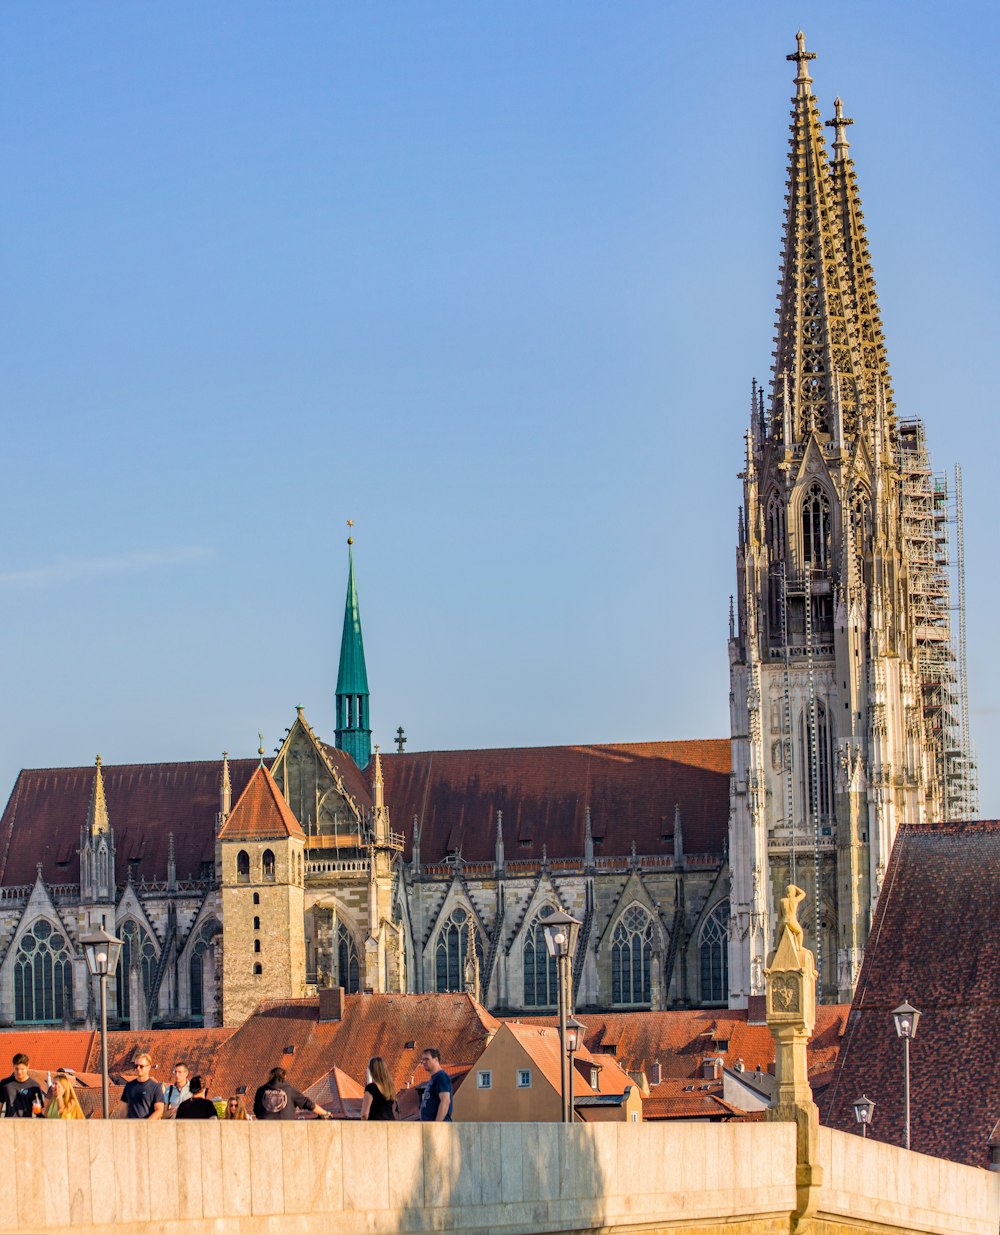
[[(885, 872), (823, 1121), (902, 1144), (902, 1044), (893, 1009), (921, 1011), (910, 1045), (911, 1146), (985, 1167), (1000, 1114), (1000, 823), (907, 825)], [(822, 1108), (821, 1108), (822, 1109)]]

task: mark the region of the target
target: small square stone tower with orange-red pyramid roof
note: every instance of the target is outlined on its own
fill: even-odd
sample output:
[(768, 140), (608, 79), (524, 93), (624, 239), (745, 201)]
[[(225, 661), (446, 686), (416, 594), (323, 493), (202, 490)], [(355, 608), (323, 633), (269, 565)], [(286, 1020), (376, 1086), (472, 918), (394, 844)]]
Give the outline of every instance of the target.
[(222, 1020), (241, 1025), (262, 999), (305, 989), (305, 834), (260, 766), (221, 820)]

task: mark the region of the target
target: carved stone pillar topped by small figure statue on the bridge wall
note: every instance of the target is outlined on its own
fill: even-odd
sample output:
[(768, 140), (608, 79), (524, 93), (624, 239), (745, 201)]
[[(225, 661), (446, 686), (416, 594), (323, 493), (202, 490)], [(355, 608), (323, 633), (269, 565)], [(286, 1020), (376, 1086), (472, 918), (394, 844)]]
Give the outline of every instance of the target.
[(816, 958), (802, 945), (799, 904), (801, 888), (789, 884), (780, 899), (778, 946), (764, 969), (768, 1028), (774, 1037), (778, 1087), (768, 1120), (795, 1124), (795, 1191), (793, 1235), (812, 1229), (816, 1191), (822, 1184), (817, 1137), (820, 1114), (809, 1083), (806, 1046), (816, 1024)]

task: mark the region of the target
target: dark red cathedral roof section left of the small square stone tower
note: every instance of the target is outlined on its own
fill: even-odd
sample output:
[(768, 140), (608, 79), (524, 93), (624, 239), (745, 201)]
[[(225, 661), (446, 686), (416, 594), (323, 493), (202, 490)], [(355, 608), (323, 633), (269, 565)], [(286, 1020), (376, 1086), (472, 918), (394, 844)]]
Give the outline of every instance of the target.
[[(179, 879), (198, 878), (201, 863), (215, 861), (221, 767), (220, 760), (102, 767), (119, 883), (132, 861), (143, 878), (165, 879), (170, 832)], [(230, 761), (233, 797), (256, 767), (256, 760)], [(38, 862), (47, 883), (79, 883), (77, 851), (93, 788), (93, 767), (20, 773), (0, 820), (0, 884), (33, 883)]]

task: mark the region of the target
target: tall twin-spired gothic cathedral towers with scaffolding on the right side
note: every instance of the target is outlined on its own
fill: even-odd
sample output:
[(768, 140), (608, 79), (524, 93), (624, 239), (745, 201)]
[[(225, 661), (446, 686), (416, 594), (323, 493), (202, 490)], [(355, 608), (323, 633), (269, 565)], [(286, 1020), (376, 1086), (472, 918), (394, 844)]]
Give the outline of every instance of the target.
[(820, 997), (849, 1002), (896, 830), (968, 783), (943, 501), (898, 415), (841, 100), (796, 68), (770, 399), (754, 384), (731, 618), (730, 1003), (764, 990), (786, 883)]

